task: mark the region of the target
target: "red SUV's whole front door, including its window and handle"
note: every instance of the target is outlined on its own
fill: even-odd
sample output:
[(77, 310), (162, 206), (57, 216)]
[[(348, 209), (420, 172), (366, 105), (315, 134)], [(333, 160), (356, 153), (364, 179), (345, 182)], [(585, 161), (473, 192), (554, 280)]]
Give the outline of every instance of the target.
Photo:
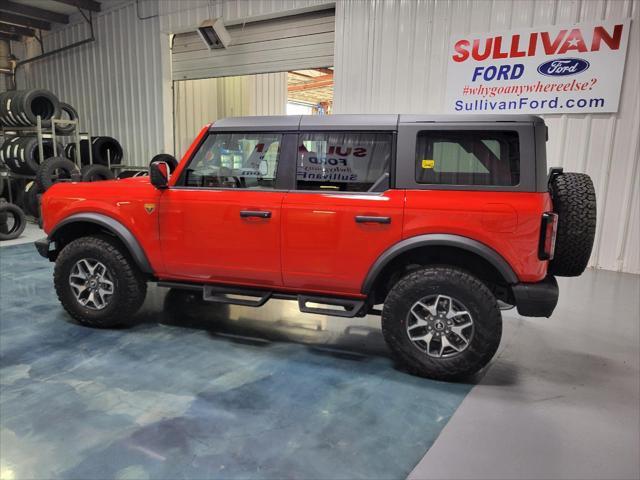
[(212, 132), (161, 195), (166, 277), (282, 285), (277, 132)]

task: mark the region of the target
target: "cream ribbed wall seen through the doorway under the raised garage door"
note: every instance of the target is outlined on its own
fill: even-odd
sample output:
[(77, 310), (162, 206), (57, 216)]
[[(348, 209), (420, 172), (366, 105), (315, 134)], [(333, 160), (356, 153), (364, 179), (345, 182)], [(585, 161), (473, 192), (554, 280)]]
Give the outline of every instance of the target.
[(284, 115), (286, 106), (286, 73), (175, 82), (176, 153), (184, 155), (200, 129), (219, 118)]

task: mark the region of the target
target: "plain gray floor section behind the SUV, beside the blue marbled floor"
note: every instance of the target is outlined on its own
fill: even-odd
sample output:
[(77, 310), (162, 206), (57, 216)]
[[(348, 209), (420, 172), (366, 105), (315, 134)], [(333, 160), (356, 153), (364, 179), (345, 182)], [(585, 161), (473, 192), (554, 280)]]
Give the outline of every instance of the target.
[(505, 337), (411, 479), (640, 478), (640, 276), (560, 280), (549, 319)]

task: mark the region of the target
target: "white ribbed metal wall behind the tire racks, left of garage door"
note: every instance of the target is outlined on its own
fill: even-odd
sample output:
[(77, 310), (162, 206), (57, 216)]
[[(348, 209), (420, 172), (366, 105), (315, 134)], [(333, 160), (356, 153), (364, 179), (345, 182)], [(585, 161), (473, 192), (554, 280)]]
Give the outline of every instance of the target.
[[(94, 29), (94, 43), (25, 65), (18, 88), (53, 91), (76, 107), (83, 128), (118, 139), (126, 163), (146, 165), (163, 146), (159, 19), (138, 20), (130, 2), (95, 15)], [(45, 34), (45, 51), (88, 36), (76, 21)], [(38, 54), (27, 42), (26, 56)]]

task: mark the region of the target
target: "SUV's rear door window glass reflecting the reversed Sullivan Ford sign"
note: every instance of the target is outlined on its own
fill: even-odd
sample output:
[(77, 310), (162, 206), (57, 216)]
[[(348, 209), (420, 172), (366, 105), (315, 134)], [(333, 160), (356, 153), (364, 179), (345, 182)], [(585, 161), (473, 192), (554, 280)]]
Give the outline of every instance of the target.
[(385, 132), (301, 133), (296, 188), (345, 192), (385, 190), (392, 142), (393, 135)]

